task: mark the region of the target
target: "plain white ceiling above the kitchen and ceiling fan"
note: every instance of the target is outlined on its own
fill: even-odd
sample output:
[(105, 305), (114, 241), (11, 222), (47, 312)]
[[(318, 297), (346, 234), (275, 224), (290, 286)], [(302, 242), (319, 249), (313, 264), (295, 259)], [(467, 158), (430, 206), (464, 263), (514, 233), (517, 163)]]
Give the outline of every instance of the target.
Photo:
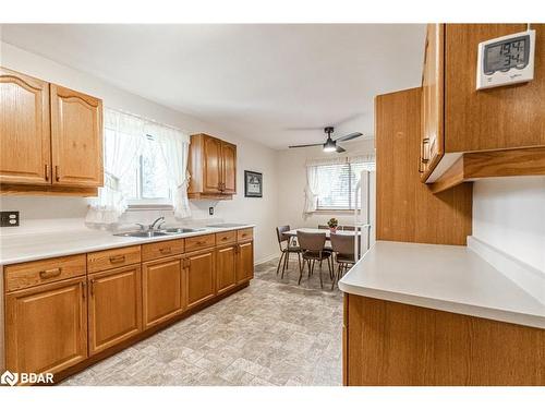
[[(3, 25), (3, 40), (272, 148), (362, 132), (419, 86), (425, 25)], [(303, 129), (303, 130), (301, 130)]]

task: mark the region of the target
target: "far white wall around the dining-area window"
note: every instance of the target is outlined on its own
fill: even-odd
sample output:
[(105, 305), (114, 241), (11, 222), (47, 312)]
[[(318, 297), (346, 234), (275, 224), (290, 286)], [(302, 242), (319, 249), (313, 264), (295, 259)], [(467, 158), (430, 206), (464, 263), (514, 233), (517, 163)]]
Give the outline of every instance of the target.
[[(374, 140), (352, 141), (342, 144), (350, 155), (374, 153)], [(344, 153), (344, 155), (347, 155)], [(343, 154), (332, 154), (342, 156)], [(325, 154), (320, 147), (298, 148), (278, 152), (278, 185), (280, 201), (278, 204), (279, 225), (291, 227), (317, 227), (327, 224), (331, 217), (339, 220), (339, 225), (353, 225), (352, 212), (317, 212), (304, 215), (304, 188), (306, 185), (306, 160), (331, 156)]]

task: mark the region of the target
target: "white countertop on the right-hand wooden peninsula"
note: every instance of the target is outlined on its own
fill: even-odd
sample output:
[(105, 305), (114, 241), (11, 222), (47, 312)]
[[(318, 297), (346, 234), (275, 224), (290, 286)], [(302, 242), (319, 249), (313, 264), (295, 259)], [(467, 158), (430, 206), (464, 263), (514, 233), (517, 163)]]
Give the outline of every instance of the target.
[(545, 328), (545, 304), (462, 245), (377, 241), (339, 281), (348, 293)]

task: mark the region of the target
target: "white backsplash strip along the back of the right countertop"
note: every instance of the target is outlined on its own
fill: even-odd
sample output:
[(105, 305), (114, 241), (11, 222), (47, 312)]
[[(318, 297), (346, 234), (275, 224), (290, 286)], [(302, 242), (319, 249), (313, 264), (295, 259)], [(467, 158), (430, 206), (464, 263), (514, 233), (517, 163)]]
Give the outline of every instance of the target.
[(468, 236), (468, 248), (530, 296), (542, 304), (545, 304), (545, 292), (543, 291), (545, 288), (544, 272), (514, 258), (473, 236)]

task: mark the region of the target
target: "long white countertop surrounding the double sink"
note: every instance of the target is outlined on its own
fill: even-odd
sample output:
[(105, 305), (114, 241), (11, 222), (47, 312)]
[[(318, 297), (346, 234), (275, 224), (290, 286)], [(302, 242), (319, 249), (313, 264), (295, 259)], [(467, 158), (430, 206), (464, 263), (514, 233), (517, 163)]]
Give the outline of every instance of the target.
[(182, 239), (221, 231), (239, 230), (249, 227), (255, 227), (255, 225), (241, 224), (241, 226), (226, 228), (206, 227), (199, 231), (155, 238), (119, 237), (113, 236), (111, 231), (92, 230), (87, 228), (49, 233), (40, 232), (33, 234), (2, 236), (0, 237), (0, 265), (88, 253), (155, 241)]

